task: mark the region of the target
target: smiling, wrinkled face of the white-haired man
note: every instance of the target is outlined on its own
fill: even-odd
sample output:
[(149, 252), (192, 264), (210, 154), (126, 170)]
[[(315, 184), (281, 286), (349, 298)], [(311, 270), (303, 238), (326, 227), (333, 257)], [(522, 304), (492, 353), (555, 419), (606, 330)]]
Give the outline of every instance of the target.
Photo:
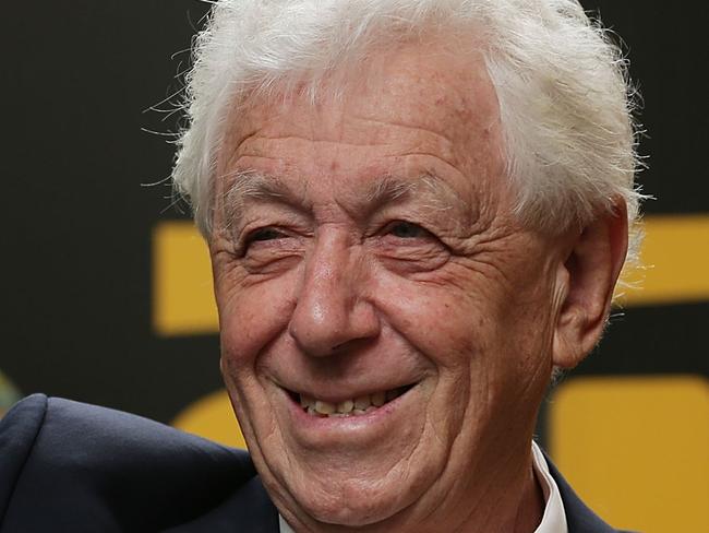
[(228, 132), (211, 242), (227, 388), (292, 524), (506, 520), (568, 246), (510, 215), (481, 57), (402, 46), (363, 74), (316, 104), (256, 99)]

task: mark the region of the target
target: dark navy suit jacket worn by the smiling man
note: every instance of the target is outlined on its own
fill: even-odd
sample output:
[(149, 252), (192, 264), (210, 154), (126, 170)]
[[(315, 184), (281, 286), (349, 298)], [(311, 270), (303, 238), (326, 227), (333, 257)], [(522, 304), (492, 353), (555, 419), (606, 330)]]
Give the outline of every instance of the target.
[[(550, 464), (569, 533), (612, 528)], [(35, 394), (0, 422), (0, 532), (278, 532), (247, 452), (146, 418)]]

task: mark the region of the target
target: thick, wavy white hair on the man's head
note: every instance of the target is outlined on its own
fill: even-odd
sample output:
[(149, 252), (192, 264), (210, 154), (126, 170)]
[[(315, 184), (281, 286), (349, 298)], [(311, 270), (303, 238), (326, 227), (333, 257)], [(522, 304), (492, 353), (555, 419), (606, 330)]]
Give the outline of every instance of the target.
[[(626, 62), (576, 0), (216, 0), (187, 74), (172, 178), (211, 235), (217, 151), (239, 96), (322, 79), (422, 32), (469, 36), (497, 93), (515, 213), (540, 228), (584, 225), (640, 194)], [(636, 237), (636, 240), (639, 236)], [(630, 249), (637, 242), (630, 242)]]

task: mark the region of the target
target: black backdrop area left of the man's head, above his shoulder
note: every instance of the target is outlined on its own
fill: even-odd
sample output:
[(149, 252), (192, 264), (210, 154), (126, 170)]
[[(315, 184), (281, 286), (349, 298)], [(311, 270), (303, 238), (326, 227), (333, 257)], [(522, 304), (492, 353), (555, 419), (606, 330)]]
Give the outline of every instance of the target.
[[(218, 386), (215, 337), (151, 329), (151, 228), (170, 208), (175, 92), (207, 5), (7, 2), (2, 66), (5, 318), (0, 369), (23, 393), (163, 421)], [(171, 56), (178, 52), (173, 59)], [(167, 106), (166, 106), (167, 107)]]

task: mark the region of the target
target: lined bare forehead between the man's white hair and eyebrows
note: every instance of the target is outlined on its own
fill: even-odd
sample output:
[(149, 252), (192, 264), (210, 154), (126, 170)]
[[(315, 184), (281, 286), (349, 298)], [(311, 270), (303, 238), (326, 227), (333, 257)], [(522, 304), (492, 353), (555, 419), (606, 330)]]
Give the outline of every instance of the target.
[[(500, 109), (483, 56), (472, 44), (465, 54), (454, 48), (442, 39), (380, 48), (327, 74), (314, 93), (301, 84), (252, 94), (228, 117), (218, 175), (250, 170), (254, 162), (266, 162), (264, 174), (284, 174), (320, 158), (319, 170), (363, 179), (385, 175), (376, 168), (383, 159), (421, 155), (469, 178), (500, 176)], [(422, 171), (440, 168), (416, 170)]]

